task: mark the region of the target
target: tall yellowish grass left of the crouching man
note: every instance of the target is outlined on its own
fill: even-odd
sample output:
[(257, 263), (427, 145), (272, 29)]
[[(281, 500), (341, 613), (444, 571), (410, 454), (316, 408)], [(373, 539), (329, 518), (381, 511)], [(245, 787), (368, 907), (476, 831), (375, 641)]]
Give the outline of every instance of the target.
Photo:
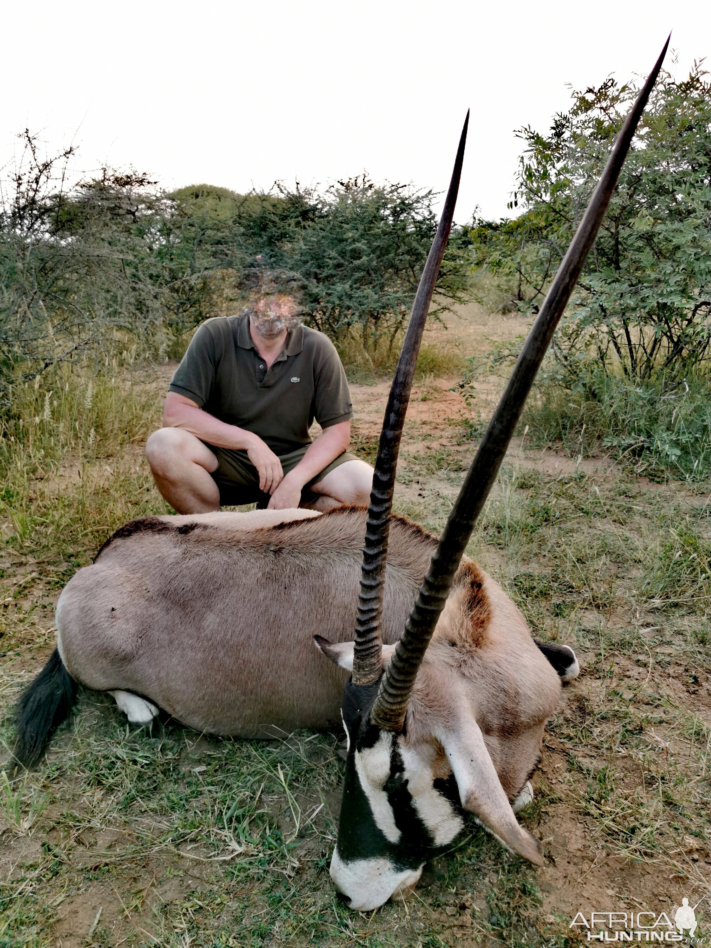
[(13, 416), (0, 419), (6, 549), (49, 563), (63, 585), (121, 523), (168, 512), (141, 465), (161, 396), (148, 373), (67, 371), (18, 386)]

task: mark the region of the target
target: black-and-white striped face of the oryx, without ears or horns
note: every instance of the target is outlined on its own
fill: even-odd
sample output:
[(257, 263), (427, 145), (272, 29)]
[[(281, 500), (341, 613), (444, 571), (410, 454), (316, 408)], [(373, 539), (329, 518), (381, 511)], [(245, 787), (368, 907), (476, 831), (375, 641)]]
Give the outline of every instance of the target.
[(331, 878), (361, 912), (414, 885), (464, 826), (454, 776), (435, 780), (427, 750), (367, 722), (376, 692), (349, 681), (341, 705), (348, 758)]

